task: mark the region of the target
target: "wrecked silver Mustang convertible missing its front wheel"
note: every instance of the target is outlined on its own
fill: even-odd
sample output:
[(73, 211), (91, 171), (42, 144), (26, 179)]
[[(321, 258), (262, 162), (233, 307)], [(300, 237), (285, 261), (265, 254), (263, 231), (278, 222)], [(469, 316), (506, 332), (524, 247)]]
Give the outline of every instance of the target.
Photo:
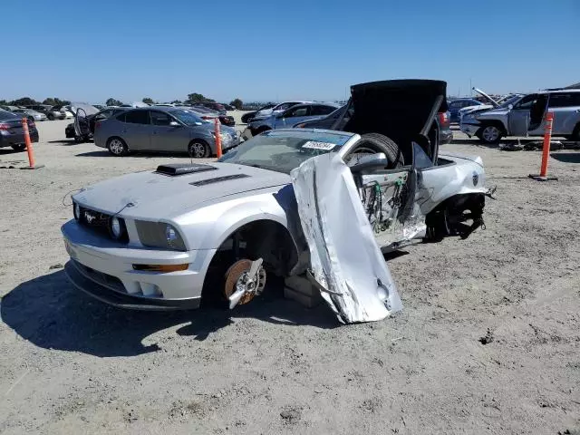
[(445, 88), (355, 85), (332, 131), (266, 131), (215, 163), (82, 189), (65, 271), (106, 303), (157, 310), (233, 308), (306, 274), (342, 322), (381, 319), (401, 309), (381, 252), (483, 223), (482, 161), (438, 150)]

